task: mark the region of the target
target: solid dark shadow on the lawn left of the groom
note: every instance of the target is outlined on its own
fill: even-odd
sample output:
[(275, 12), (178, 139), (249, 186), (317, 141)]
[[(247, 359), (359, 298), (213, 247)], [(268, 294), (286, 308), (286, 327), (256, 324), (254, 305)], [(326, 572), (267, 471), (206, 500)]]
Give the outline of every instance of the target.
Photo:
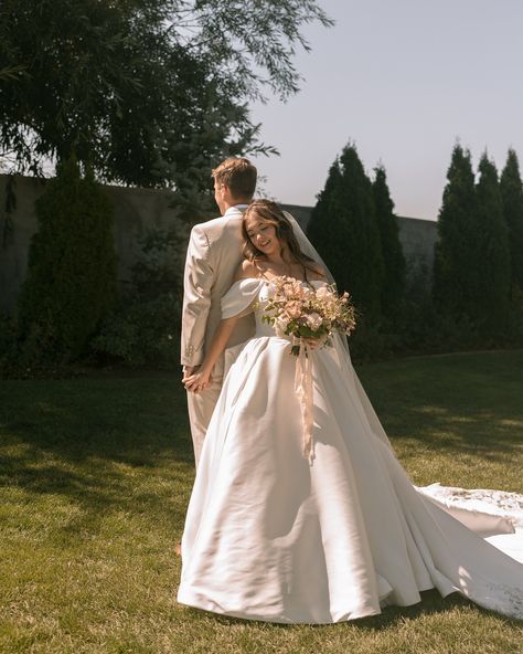
[(193, 461), (185, 397), (170, 378), (3, 382), (0, 434), (2, 444), (25, 443), (76, 463)]

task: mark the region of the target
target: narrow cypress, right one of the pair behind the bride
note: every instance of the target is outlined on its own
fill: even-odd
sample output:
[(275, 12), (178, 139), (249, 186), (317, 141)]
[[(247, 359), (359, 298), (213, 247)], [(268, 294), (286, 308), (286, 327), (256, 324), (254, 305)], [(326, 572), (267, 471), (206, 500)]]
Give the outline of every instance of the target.
[(394, 318), (399, 313), (405, 291), (405, 256), (399, 242), (399, 230), (385, 168), (378, 166), (374, 172), (372, 192), (385, 271), (385, 284), (383, 284), (381, 296), (382, 312), (384, 316)]

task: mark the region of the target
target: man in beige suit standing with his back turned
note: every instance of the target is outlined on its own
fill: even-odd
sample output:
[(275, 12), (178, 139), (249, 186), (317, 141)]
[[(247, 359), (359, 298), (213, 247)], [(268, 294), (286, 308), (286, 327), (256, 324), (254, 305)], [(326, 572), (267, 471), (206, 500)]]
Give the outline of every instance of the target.
[[(214, 198), (221, 218), (194, 225), (189, 240), (183, 277), (182, 358), (183, 379), (202, 363), (205, 348), (221, 320), (220, 300), (233, 283), (242, 256), (242, 213), (256, 189), (256, 168), (243, 158), (225, 159), (212, 171)], [(253, 316), (241, 318), (228, 347), (254, 334)], [(203, 440), (223, 382), (223, 356), (210, 386), (188, 393), (194, 460), (200, 461)]]

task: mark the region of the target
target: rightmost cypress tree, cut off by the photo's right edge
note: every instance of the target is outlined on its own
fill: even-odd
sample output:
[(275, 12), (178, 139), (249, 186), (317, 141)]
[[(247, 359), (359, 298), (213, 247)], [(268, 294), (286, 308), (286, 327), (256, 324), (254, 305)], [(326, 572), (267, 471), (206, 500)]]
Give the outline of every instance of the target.
[(509, 150), (500, 180), (503, 217), (509, 230), (511, 296), (523, 294), (523, 184), (517, 155)]

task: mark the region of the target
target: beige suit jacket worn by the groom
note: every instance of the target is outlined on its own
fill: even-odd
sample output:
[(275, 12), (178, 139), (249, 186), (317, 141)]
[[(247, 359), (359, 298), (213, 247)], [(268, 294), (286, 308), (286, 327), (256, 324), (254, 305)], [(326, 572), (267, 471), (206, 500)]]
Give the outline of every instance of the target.
[[(221, 299), (231, 288), (242, 255), (242, 210), (232, 207), (225, 215), (194, 225), (189, 241), (184, 274), (181, 362), (199, 366), (222, 319)], [(227, 344), (232, 347), (254, 335), (254, 317), (238, 320)], [(224, 357), (215, 377), (223, 373)]]

